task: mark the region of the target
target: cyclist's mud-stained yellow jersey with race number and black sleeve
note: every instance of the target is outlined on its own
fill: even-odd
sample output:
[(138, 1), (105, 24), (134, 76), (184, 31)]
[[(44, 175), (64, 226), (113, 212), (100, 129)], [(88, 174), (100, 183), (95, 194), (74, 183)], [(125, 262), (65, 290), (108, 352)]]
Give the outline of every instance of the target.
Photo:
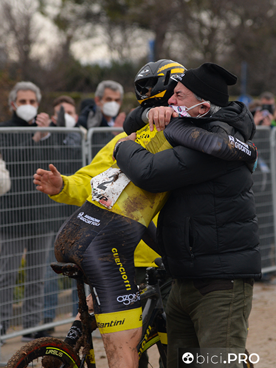
[[(146, 125), (136, 132), (136, 143), (154, 154), (183, 145), (227, 161), (254, 163), (257, 158), (257, 150), (252, 142), (244, 143), (233, 136), (215, 134), (177, 119), (163, 131), (157, 131), (155, 126), (150, 131), (149, 125)], [(92, 203), (132, 218), (145, 226), (149, 225), (167, 199), (164, 192), (153, 194), (135, 186), (118, 169), (117, 164), (91, 182)]]

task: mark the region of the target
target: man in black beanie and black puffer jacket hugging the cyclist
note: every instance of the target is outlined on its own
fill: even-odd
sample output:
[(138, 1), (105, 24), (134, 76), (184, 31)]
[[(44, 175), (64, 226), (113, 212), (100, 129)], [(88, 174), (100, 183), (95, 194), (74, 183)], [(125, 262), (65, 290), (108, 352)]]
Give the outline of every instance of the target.
[[(227, 134), (230, 141), (236, 137), (239, 149), (246, 150), (243, 142), (256, 128), (244, 104), (228, 101), (235, 75), (204, 63), (171, 78), (177, 84), (169, 106), (151, 109), (149, 123), (165, 128), (168, 141), (179, 126), (192, 124)], [(208, 144), (202, 152), (176, 146), (152, 154), (128, 140), (116, 153), (118, 166), (135, 185), (153, 193), (171, 191), (158, 217), (159, 253), (174, 279), (166, 306), (169, 368), (177, 368), (178, 359), (181, 367), (185, 351), (178, 358), (178, 348), (215, 348), (225, 358), (243, 354), (253, 282), (261, 277), (251, 172), (239, 161), (206, 155)], [(229, 367), (242, 367), (230, 357)]]

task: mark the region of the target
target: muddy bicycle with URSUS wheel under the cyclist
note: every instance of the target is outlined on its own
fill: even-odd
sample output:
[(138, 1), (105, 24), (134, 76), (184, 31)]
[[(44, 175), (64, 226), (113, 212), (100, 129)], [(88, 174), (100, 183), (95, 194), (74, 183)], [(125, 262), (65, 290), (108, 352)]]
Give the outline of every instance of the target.
[[(147, 268), (147, 284), (138, 286), (141, 300), (145, 299), (147, 302), (143, 309), (142, 338), (137, 350), (140, 357), (144, 351), (156, 344), (163, 367), (166, 368), (166, 316), (160, 287), (165, 287), (167, 283), (159, 285), (165, 279), (166, 271), (161, 258), (157, 258), (155, 263), (157, 268)], [(97, 324), (94, 314), (88, 313), (84, 289), (85, 276), (74, 263), (54, 262), (51, 267), (56, 273), (62, 273), (77, 280), (82, 335), (74, 348), (54, 337), (41, 337), (30, 341), (10, 358), (6, 368), (96, 368), (91, 334), (97, 328)], [(249, 356), (248, 352), (245, 352)], [(254, 368), (250, 362), (246, 365), (243, 363), (243, 367)]]

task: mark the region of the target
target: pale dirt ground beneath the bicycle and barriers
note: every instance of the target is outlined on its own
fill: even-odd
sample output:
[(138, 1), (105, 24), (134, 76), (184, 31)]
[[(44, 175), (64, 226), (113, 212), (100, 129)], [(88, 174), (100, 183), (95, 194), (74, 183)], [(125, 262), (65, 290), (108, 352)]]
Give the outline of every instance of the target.
[[(56, 327), (53, 336), (64, 339), (69, 327), (69, 325)], [(98, 332), (93, 341), (97, 367), (108, 368), (106, 354)], [(22, 345), (20, 337), (7, 340), (1, 347), (0, 366), (4, 367), (4, 363)], [(260, 356), (259, 363), (255, 364), (256, 368), (276, 368), (276, 279), (270, 283), (256, 283), (254, 286), (247, 349), (250, 353)], [(158, 351), (155, 346), (149, 349), (149, 356), (152, 367), (158, 368)]]

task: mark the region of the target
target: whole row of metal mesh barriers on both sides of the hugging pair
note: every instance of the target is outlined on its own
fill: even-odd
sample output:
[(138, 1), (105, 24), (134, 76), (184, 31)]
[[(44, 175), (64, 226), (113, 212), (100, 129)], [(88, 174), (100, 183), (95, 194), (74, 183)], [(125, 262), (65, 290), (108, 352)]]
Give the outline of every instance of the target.
[[(0, 128), (0, 152), (11, 176), (10, 191), (0, 197), (0, 322), (6, 327), (4, 339), (71, 322), (76, 312), (74, 285), (49, 267), (54, 260), (54, 237), (76, 207), (58, 204), (37, 191), (33, 174), (38, 167), (48, 169), (50, 163), (62, 174), (73, 174), (121, 131), (97, 127), (89, 129), (85, 137), (79, 128)], [(37, 132), (50, 135), (36, 143), (33, 137)], [(253, 141), (259, 152), (253, 191), (262, 271), (267, 273), (276, 271), (276, 128), (258, 127)], [(36, 327), (32, 327), (34, 321)]]

